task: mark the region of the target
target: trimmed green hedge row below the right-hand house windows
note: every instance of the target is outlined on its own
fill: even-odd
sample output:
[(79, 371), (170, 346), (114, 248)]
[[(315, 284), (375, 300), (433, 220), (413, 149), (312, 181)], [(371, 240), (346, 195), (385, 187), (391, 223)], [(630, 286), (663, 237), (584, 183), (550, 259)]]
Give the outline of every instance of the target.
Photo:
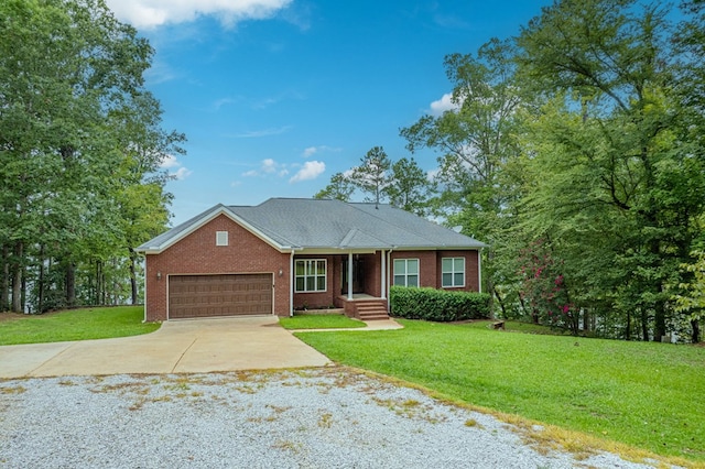
[(440, 323), (488, 318), (489, 301), (488, 294), (474, 292), (403, 286), (392, 286), (389, 292), (392, 316)]

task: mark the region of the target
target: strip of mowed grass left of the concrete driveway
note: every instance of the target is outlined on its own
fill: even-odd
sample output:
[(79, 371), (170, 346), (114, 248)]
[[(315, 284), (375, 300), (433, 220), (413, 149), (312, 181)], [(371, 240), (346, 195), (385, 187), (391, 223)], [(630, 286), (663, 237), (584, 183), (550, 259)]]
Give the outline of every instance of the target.
[(0, 314), (0, 346), (139, 336), (159, 329), (142, 324), (142, 306), (69, 309), (46, 315)]

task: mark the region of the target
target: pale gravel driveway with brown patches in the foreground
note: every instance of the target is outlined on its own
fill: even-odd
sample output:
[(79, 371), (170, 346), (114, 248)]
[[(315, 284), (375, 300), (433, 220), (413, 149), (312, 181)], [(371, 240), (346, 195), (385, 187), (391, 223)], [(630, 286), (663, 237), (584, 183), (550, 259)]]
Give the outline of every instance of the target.
[(643, 468), (345, 368), (0, 381), (0, 468)]

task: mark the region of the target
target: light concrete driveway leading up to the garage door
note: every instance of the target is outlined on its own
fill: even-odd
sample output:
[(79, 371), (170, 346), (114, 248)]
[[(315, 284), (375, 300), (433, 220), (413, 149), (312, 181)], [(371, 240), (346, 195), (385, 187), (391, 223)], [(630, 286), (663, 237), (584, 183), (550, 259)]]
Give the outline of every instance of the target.
[(0, 347), (0, 378), (189, 373), (328, 363), (327, 357), (279, 326), (273, 316), (166, 321), (143, 336)]

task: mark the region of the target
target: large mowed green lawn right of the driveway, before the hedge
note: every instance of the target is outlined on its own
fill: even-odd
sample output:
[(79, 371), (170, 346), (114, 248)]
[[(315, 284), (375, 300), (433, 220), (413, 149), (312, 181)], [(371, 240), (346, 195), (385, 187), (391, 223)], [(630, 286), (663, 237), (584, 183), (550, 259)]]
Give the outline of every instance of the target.
[(400, 323), (296, 337), (338, 363), (452, 400), (705, 461), (705, 348)]

